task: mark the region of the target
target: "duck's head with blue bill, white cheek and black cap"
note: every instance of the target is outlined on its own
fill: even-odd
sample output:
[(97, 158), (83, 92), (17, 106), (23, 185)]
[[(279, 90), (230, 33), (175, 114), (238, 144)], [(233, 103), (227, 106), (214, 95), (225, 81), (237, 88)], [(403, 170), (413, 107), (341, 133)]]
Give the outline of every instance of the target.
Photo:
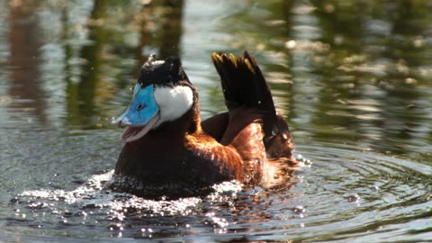
[(180, 59), (156, 60), (150, 55), (141, 68), (129, 107), (113, 123), (126, 127), (121, 139), (131, 142), (166, 121), (175, 121), (192, 106), (192, 85)]

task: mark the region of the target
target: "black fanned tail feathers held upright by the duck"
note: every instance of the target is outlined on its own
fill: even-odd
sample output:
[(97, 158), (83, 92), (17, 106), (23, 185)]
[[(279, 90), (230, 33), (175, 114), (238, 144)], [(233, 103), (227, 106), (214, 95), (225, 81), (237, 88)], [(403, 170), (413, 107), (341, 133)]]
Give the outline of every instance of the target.
[[(275, 134), (277, 116), (270, 88), (255, 58), (212, 53), (211, 60), (220, 75), (229, 111), (239, 106), (257, 108), (263, 116), (265, 140)], [(276, 128), (277, 129), (277, 128)]]

